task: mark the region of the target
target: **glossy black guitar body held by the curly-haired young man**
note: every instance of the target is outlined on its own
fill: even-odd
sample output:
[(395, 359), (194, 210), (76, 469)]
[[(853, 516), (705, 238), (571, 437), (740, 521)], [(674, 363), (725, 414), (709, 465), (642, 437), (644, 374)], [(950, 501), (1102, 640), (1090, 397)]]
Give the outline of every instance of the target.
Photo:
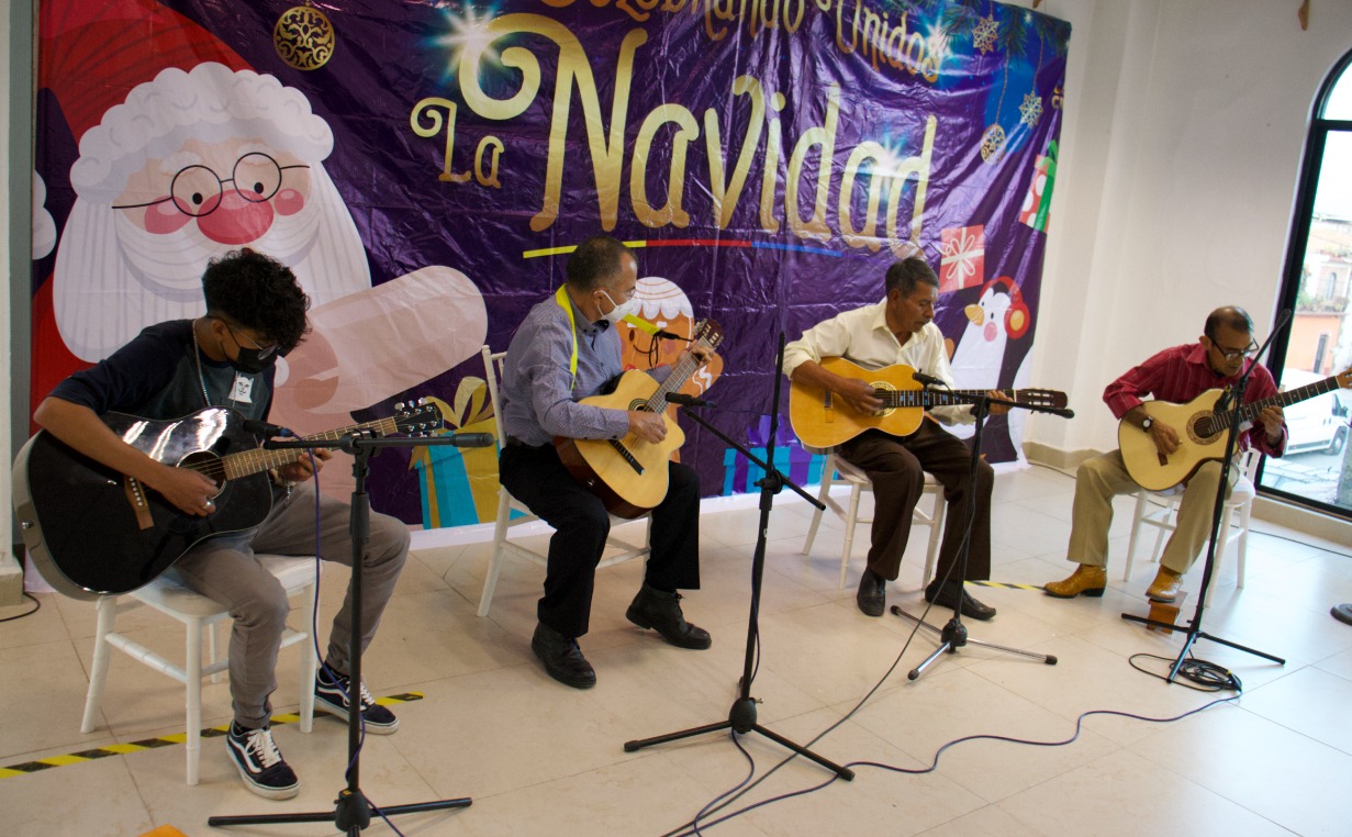
[[(166, 464), (258, 446), (243, 430), (243, 418), (219, 407), (162, 422), (120, 412), (100, 418), (127, 444)], [(28, 439), (14, 467), (15, 511), (28, 554), (49, 584), (76, 599), (143, 587), (193, 545), (251, 529), (272, 510), (266, 473), (218, 484), (216, 511), (187, 515), (46, 431)]]

